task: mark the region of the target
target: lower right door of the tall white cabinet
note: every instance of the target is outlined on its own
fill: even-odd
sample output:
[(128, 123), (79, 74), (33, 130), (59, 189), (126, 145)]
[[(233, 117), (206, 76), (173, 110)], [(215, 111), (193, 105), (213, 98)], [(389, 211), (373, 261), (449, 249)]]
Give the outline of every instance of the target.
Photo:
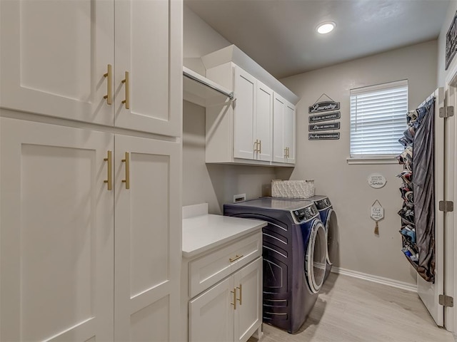
[(115, 145), (115, 341), (177, 341), (181, 146), (124, 135)]

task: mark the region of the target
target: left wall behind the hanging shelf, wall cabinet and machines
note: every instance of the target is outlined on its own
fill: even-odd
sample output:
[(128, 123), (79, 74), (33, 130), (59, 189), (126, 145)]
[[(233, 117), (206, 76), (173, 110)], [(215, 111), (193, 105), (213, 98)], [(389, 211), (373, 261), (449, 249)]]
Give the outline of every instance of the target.
[[(184, 6), (184, 65), (204, 75), (199, 58), (231, 45)], [(222, 205), (233, 195), (252, 199), (269, 195), (272, 167), (206, 165), (205, 108), (184, 101), (183, 108), (183, 205), (209, 203), (209, 212), (222, 214)]]

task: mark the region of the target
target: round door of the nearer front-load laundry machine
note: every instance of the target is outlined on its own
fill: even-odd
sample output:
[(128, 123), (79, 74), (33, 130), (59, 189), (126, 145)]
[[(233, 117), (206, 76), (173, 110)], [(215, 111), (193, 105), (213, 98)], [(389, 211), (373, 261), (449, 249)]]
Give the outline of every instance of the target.
[(317, 293), (326, 274), (327, 234), (321, 220), (314, 220), (305, 255), (305, 274), (313, 293)]

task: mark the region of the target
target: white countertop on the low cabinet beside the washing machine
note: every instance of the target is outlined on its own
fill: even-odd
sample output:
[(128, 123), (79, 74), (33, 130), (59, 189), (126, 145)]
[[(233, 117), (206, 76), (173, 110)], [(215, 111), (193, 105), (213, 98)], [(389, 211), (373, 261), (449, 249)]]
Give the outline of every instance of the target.
[(201, 210), (194, 210), (196, 216), (190, 216), (184, 214), (185, 210), (186, 207), (183, 208), (183, 257), (186, 258), (194, 257), (266, 226), (266, 222), (257, 219), (207, 214), (207, 211), (204, 213)]

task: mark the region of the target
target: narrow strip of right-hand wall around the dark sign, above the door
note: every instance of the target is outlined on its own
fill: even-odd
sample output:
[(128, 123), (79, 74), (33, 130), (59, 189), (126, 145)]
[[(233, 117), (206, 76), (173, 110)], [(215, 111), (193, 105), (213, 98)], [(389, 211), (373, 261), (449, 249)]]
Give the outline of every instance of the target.
[(451, 61), (451, 65), (448, 70), (444, 70), (446, 66), (445, 56), (446, 56), (446, 33), (448, 32), (449, 26), (451, 26), (451, 21), (456, 15), (457, 11), (457, 0), (452, 0), (449, 3), (448, 11), (446, 11), (446, 20), (441, 26), (441, 33), (438, 38), (438, 86), (445, 86), (446, 77), (449, 73), (455, 73), (457, 69), (457, 55), (454, 56)]

